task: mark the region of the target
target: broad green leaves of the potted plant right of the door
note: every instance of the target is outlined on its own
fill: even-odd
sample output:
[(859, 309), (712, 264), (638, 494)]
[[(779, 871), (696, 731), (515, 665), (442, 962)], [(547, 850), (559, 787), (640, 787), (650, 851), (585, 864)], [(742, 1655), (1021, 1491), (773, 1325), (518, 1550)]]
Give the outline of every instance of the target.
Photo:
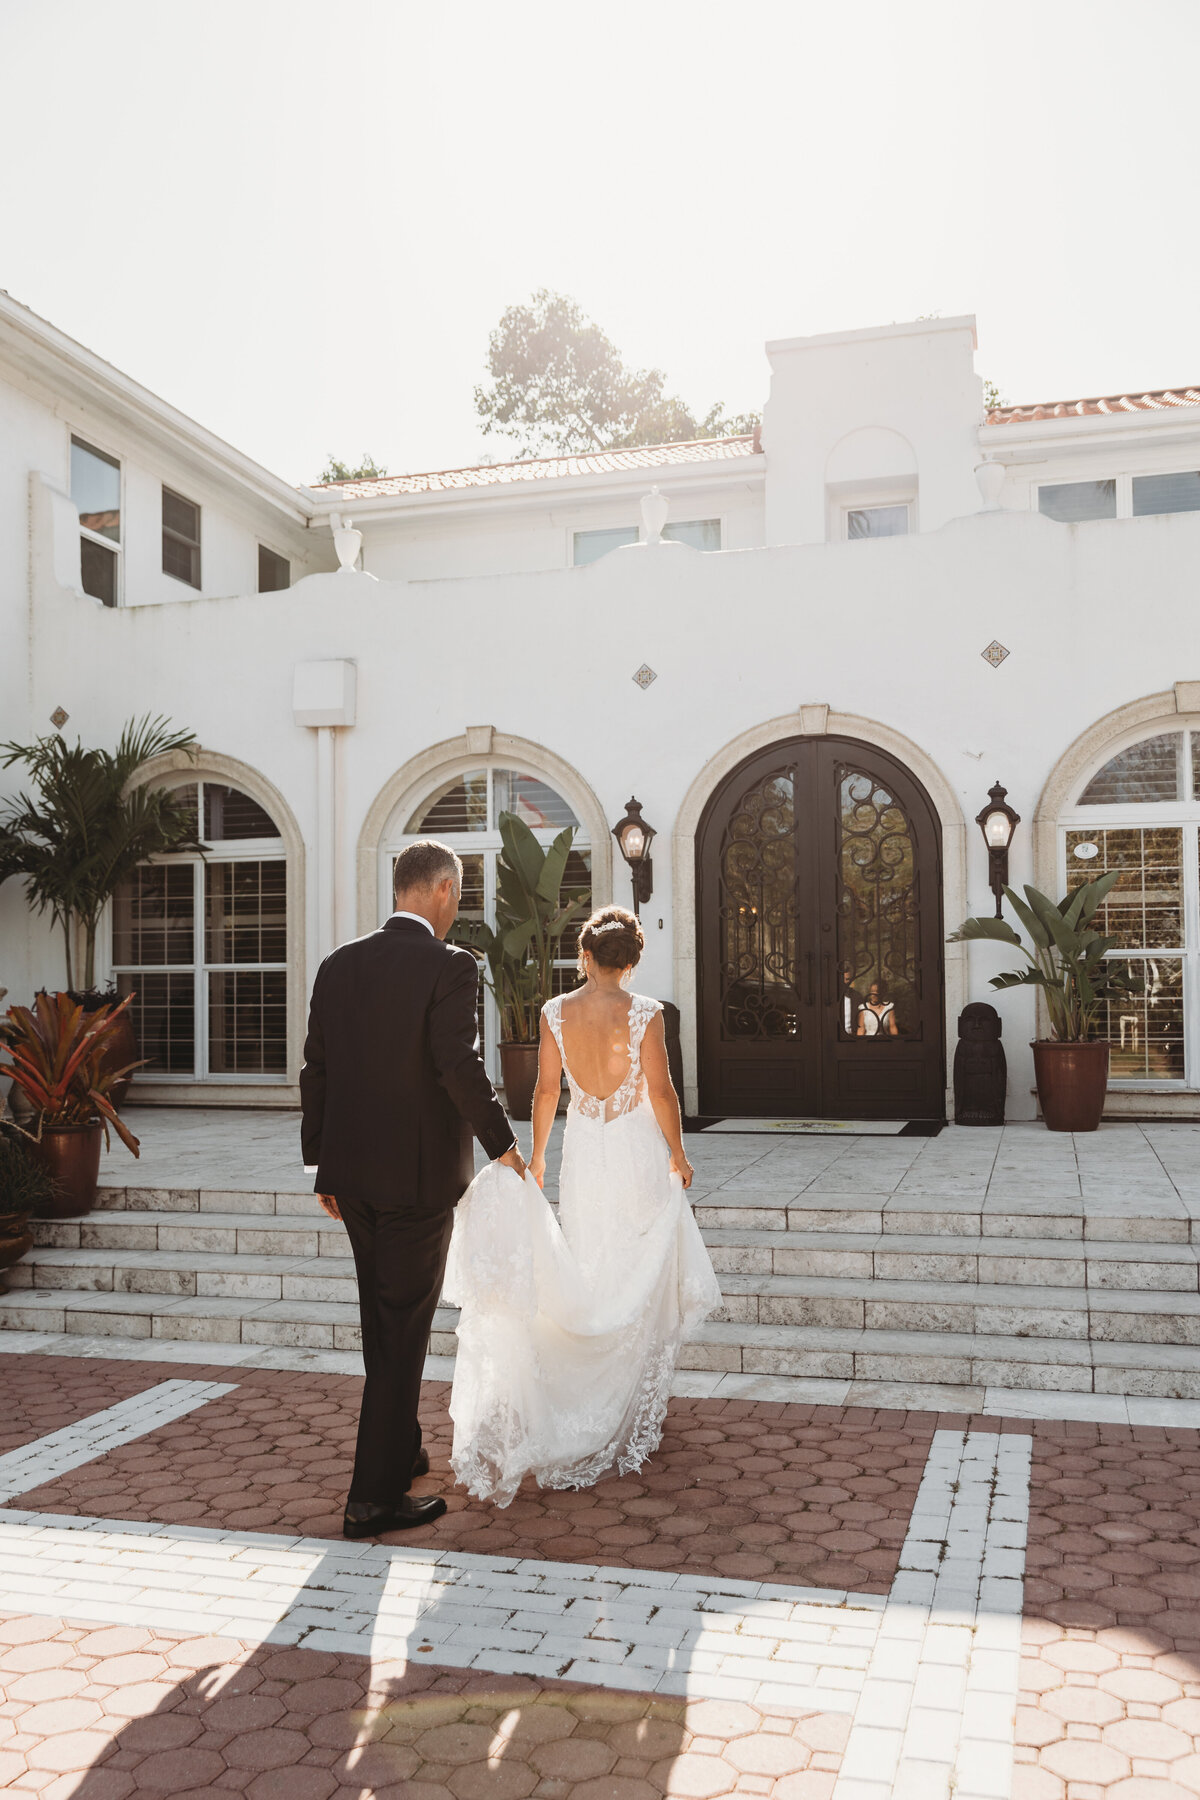
[(993, 943), (1016, 945), (1029, 958), (1029, 967), (993, 976), (991, 986), (1042, 988), (1052, 1037), (1060, 1044), (1081, 1044), (1094, 1035), (1105, 1001), (1128, 994), (1132, 986), (1123, 968), (1106, 961), (1108, 950), (1119, 949), (1119, 938), (1105, 938), (1092, 929), (1092, 920), (1115, 887), (1119, 873), (1108, 869), (1106, 875), (1085, 882), (1058, 902), (1036, 887), (1025, 887), (1025, 898), (1020, 900), (1011, 887), (1006, 887), (1004, 898), (1025, 927), (1031, 943), (1024, 943), (1002, 918), (968, 918), (950, 936), (950, 943), (988, 938)]

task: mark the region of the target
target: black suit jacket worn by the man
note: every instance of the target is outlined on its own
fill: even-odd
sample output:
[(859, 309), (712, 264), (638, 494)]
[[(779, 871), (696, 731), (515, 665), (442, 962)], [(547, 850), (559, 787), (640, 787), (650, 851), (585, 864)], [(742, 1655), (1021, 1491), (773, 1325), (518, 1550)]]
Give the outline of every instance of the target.
[(423, 1213), (516, 1141), (479, 1055), (479, 965), (416, 920), (389, 918), (324, 959), (300, 1069), (317, 1192)]

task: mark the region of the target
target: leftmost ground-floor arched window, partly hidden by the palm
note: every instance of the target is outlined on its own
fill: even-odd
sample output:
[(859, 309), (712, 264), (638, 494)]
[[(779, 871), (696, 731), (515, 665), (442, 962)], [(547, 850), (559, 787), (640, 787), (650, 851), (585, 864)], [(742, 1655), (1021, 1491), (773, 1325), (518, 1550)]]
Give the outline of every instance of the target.
[(207, 857), (158, 857), (119, 889), (112, 970), (137, 994), (146, 1078), (279, 1082), (288, 1069), (288, 898), (279, 826), (219, 781), (176, 792)]

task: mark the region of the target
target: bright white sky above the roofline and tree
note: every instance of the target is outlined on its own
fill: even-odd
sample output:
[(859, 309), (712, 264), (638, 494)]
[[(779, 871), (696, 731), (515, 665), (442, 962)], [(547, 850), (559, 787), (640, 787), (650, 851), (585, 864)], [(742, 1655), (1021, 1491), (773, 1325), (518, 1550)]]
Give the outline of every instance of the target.
[(696, 409), (973, 311), (1009, 400), (1200, 380), (1200, 0), (0, 0), (0, 286), (290, 481), (452, 466), (574, 295)]

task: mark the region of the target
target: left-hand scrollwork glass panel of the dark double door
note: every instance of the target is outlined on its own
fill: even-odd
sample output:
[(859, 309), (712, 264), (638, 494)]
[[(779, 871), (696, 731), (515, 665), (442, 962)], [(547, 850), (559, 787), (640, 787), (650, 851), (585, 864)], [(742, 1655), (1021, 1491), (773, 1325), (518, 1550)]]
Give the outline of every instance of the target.
[(721, 844), (721, 1037), (797, 1035), (795, 781), (743, 794)]

